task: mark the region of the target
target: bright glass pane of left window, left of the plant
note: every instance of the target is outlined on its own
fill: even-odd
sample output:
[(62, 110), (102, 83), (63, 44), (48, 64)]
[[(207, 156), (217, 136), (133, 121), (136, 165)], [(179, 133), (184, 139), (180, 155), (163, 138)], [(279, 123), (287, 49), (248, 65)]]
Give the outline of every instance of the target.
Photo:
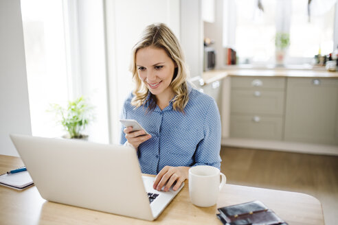
[(60, 137), (50, 103), (68, 99), (63, 1), (21, 0), (32, 134)]

